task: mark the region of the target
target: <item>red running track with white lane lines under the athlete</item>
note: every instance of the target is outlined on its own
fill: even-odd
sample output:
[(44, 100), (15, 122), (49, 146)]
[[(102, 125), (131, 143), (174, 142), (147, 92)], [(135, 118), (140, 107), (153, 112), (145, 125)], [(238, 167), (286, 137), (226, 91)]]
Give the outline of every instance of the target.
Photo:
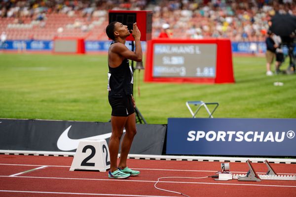
[[(221, 162), (129, 159), (140, 176), (109, 179), (108, 172), (69, 171), (73, 157), (0, 155), (0, 197), (182, 197), (160, 191), (160, 177), (204, 177), (215, 175)], [(266, 173), (263, 163), (252, 164)], [(278, 174), (296, 174), (296, 164), (271, 164)], [(22, 173), (24, 171), (40, 169)], [(232, 173), (246, 173), (246, 163), (230, 163)], [(19, 174), (22, 173), (22, 174)], [(190, 197), (296, 197), (296, 181), (215, 181), (213, 178), (162, 179), (157, 187)]]

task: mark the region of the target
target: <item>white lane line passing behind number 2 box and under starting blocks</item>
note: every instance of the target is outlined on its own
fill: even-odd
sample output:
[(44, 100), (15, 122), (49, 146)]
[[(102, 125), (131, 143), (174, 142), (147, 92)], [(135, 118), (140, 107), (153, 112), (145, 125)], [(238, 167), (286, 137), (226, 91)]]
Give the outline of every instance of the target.
[[(33, 164), (0, 164), (0, 165), (20, 165), (20, 166), (43, 166), (43, 165), (33, 165)], [(68, 165), (47, 165), (48, 167), (71, 167)], [(190, 170), (190, 169), (157, 169), (157, 168), (133, 168), (137, 170), (160, 170), (160, 171), (187, 171), (187, 172), (217, 172), (218, 170)], [(246, 174), (247, 172), (241, 171), (231, 171), (231, 173), (236, 174)], [(266, 174), (266, 172), (257, 172), (258, 174)], [(277, 173), (277, 174), (289, 174), (296, 175), (296, 173)]]

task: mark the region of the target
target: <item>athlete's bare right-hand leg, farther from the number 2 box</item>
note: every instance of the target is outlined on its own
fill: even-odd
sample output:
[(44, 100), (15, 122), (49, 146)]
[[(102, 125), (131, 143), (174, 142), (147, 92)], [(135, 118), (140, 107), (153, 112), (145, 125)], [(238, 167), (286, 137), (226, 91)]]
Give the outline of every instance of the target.
[(125, 123), (125, 134), (123, 136), (121, 142), (121, 153), (120, 153), (120, 161), (118, 167), (123, 169), (126, 167), (127, 155), (131, 149), (131, 145), (134, 139), (135, 134), (137, 133), (136, 129), (136, 113), (132, 113), (127, 117), (127, 121)]

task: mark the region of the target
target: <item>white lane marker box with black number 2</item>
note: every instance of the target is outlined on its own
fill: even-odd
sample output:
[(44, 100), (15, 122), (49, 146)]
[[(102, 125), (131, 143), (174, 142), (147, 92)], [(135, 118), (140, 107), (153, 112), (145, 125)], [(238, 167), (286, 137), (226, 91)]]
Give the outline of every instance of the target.
[(105, 139), (82, 140), (79, 142), (70, 171), (98, 170), (110, 168), (110, 154)]

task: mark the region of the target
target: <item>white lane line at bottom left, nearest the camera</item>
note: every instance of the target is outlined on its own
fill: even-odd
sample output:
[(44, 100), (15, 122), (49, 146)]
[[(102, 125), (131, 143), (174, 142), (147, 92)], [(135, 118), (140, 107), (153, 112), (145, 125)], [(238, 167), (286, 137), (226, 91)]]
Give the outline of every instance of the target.
[[(90, 195), (90, 196), (119, 196), (119, 197), (173, 197), (173, 196), (143, 196), (143, 195), (124, 195), (124, 194), (91, 194), (91, 193), (72, 193), (72, 192), (38, 192), (38, 191), (14, 191), (14, 190), (0, 190), (0, 192), (14, 192), (14, 193), (37, 193), (37, 194), (63, 194), (63, 195)], [(174, 196), (176, 197), (176, 196)]]

